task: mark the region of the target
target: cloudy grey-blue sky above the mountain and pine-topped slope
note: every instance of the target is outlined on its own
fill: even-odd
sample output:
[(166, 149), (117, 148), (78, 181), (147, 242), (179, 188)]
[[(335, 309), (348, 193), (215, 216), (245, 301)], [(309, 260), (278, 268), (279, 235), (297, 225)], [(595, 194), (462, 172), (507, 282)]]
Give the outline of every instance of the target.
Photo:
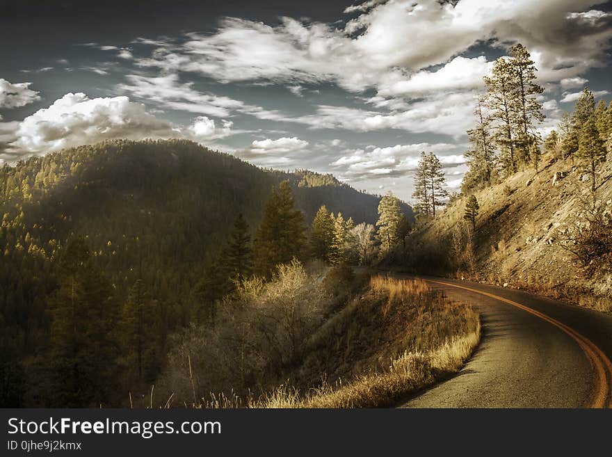
[(612, 90), (612, 5), (593, 0), (0, 0), (0, 40), (0, 161), (188, 138), (407, 202), (421, 151), (458, 189), (482, 77), (515, 43), (542, 134)]

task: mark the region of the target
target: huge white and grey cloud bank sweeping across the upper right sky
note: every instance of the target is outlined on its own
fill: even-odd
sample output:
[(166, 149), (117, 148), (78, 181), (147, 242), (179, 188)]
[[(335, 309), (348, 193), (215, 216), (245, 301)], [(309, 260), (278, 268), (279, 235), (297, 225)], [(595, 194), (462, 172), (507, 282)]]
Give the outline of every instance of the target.
[[(410, 81), (414, 73), (448, 63), (479, 42), (506, 47), (520, 41), (533, 51), (542, 75), (558, 81), (597, 65), (609, 47), (609, 13), (581, 13), (593, 3), (602, 1), (368, 1), (348, 8), (364, 13), (344, 29), (287, 17), (277, 26), (227, 18), (216, 33), (191, 33), (182, 44), (165, 43), (136, 62), (224, 82), (336, 81), (358, 91)], [(451, 84), (453, 75), (446, 76)]]

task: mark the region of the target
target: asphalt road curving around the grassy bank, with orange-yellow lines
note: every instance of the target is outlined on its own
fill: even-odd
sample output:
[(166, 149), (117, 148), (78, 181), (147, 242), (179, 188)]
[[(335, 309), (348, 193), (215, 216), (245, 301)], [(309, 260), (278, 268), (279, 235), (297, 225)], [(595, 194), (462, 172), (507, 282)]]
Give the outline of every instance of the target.
[(404, 408), (610, 408), (612, 315), (524, 291), (426, 279), (481, 314), (481, 344), (456, 375)]

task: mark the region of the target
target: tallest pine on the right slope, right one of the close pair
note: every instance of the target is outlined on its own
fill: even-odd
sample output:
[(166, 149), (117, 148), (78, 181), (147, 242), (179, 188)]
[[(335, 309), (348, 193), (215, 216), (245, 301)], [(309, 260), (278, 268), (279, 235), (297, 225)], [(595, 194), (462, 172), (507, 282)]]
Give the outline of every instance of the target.
[(531, 55), (520, 43), (514, 45), (510, 49), (510, 65), (512, 65), (517, 76), (517, 97), (519, 104), (519, 115), (517, 116), (517, 143), (521, 146), (520, 150), (523, 153), (522, 160), (529, 161), (529, 152), (531, 144), (536, 141), (535, 129), (533, 127), (534, 120), (542, 122), (544, 114), (542, 113), (542, 105), (536, 98), (544, 89), (538, 86), (536, 80), (535, 63), (531, 60)]

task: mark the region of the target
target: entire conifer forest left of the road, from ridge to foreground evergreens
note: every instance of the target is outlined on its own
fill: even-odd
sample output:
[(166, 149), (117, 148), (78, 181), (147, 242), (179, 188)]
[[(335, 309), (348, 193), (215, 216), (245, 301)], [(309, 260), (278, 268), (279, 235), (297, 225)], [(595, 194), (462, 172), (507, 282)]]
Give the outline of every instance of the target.
[(330, 262), (358, 261), (352, 233), (362, 227), (367, 252), (377, 252), (383, 200), (394, 213), (381, 227), (412, 219), (392, 196), (188, 141), (108, 141), (5, 164), (0, 404), (123, 401), (120, 392), (163, 371), (172, 335), (214, 326), (239, 284), (307, 262), (307, 227), (321, 207), (332, 211), (323, 211), (334, 224), (323, 246), (333, 242)]

